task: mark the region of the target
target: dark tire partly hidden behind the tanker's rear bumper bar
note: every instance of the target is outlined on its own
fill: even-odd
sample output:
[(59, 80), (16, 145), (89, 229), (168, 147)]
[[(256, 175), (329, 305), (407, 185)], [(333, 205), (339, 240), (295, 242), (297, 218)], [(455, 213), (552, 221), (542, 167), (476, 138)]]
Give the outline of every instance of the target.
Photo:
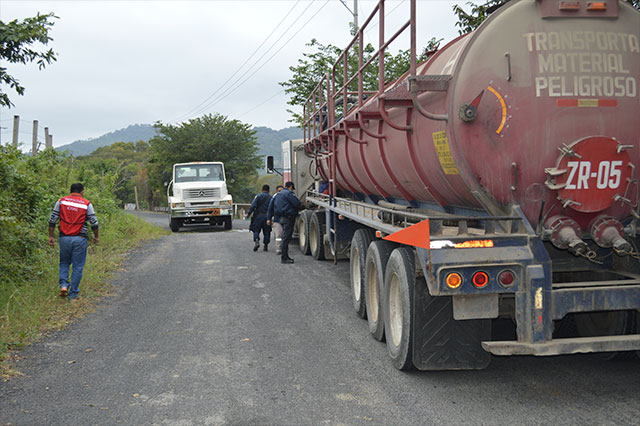
[[(635, 328), (635, 315), (632, 311), (589, 312), (574, 314), (578, 335), (582, 337), (615, 336), (633, 333)], [(601, 359), (612, 361), (614, 359), (629, 359), (633, 352), (600, 352), (597, 356)]]

